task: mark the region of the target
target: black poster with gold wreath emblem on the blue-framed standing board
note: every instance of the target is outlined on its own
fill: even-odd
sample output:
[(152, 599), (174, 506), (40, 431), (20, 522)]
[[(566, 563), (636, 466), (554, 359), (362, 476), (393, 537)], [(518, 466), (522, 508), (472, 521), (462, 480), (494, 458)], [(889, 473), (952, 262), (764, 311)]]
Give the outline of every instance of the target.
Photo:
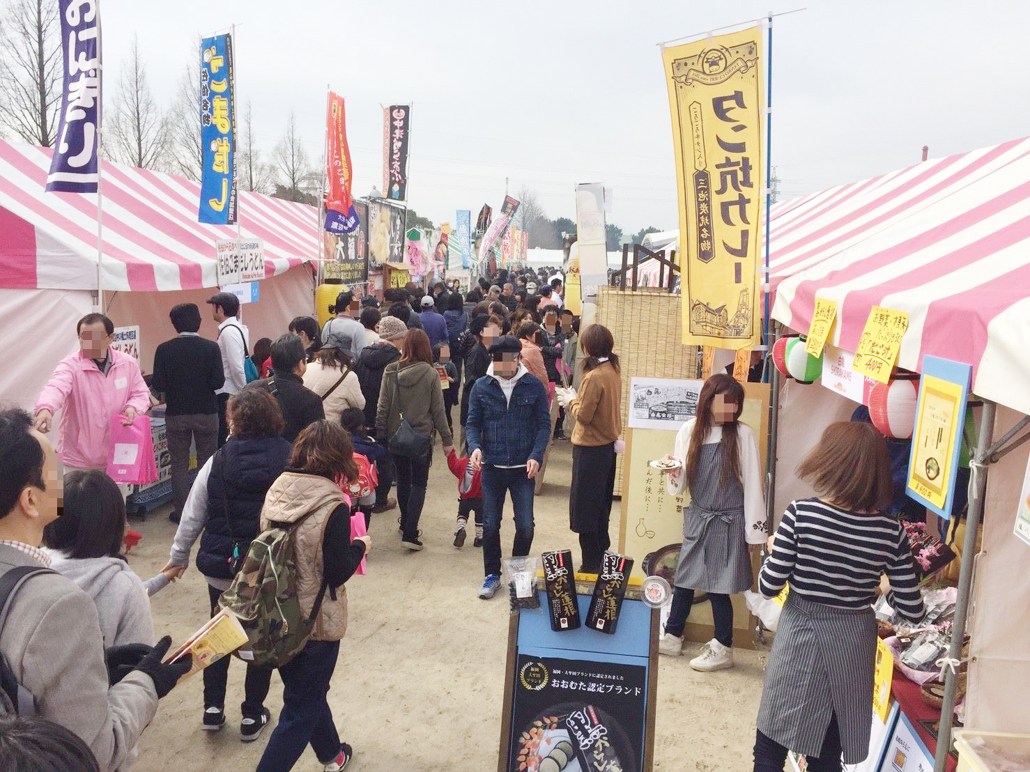
[(511, 772), (640, 772), (645, 668), (519, 655)]

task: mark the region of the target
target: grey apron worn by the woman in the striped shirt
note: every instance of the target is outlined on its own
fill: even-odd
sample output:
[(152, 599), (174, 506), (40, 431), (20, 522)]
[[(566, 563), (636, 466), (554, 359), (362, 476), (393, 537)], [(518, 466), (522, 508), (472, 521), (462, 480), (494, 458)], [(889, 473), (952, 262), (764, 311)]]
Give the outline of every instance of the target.
[(834, 608), (790, 593), (765, 672), (758, 731), (818, 757), (836, 713), (845, 764), (869, 752), (877, 622), (871, 607)]

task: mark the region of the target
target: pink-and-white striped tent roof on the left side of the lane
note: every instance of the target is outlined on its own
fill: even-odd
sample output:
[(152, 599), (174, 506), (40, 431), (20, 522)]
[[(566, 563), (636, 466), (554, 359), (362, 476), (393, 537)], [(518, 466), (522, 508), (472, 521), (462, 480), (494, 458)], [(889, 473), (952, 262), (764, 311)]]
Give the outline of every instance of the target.
[[(97, 199), (45, 192), (50, 152), (0, 140), (0, 287), (96, 289)], [(217, 285), (215, 241), (237, 229), (197, 221), (199, 183), (105, 161), (102, 191), (105, 290)], [(314, 207), (240, 192), (239, 216), (266, 276), (317, 256)]]

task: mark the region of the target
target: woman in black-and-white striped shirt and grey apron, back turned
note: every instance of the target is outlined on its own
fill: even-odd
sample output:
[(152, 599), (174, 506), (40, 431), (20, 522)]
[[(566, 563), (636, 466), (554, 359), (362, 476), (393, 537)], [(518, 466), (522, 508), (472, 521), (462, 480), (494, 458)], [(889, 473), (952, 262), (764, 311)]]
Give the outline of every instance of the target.
[(758, 577), (772, 597), (789, 583), (758, 712), (755, 772), (782, 772), (787, 749), (811, 772), (842, 769), (868, 753), (881, 576), (891, 605), (919, 621), (904, 529), (883, 513), (891, 496), (884, 437), (870, 424), (834, 423), (801, 461), (818, 498), (793, 501)]

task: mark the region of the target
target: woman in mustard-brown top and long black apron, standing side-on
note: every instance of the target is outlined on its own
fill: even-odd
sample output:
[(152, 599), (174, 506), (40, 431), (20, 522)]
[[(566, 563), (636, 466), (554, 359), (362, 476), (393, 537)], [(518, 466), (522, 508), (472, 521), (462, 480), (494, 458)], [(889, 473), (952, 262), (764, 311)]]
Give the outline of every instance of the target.
[(583, 381), (579, 393), (561, 389), (558, 401), (576, 419), (573, 428), (573, 481), (569, 522), (579, 534), (580, 570), (597, 573), (605, 552), (615, 490), (615, 441), (622, 431), (622, 380), (615, 340), (608, 327), (591, 324), (583, 332)]

